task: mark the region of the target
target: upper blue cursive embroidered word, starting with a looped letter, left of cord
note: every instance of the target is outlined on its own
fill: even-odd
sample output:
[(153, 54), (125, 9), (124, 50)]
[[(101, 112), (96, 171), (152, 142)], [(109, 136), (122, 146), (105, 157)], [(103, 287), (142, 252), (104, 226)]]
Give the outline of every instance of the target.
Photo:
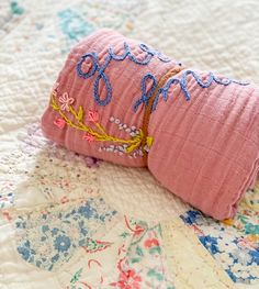
[[(94, 96), (95, 102), (99, 105), (105, 107), (112, 99), (112, 86), (111, 86), (111, 82), (108, 76), (104, 73), (112, 59), (116, 62), (122, 62), (125, 58), (128, 58), (130, 60), (134, 62), (137, 65), (147, 65), (149, 64), (149, 62), (151, 60), (154, 56), (157, 56), (157, 58), (161, 60), (162, 63), (171, 62), (168, 57), (165, 57), (161, 53), (157, 52), (154, 48), (148, 47), (146, 44), (139, 44), (138, 47), (142, 49), (142, 52), (146, 53), (143, 60), (138, 60), (134, 56), (134, 54), (132, 53), (126, 42), (124, 42), (124, 53), (122, 55), (115, 55), (114, 51), (112, 48), (109, 48), (108, 56), (104, 59), (104, 64), (102, 66), (98, 63), (98, 55), (94, 52), (87, 53), (83, 56), (81, 56), (79, 63), (77, 64), (77, 68), (76, 68), (79, 77), (87, 79), (93, 76), (98, 71), (98, 76), (93, 84), (93, 96)], [(83, 73), (82, 64), (85, 63), (87, 58), (90, 58), (89, 60), (92, 65), (91, 65), (90, 71)], [(103, 100), (101, 100), (100, 95), (99, 95), (99, 84), (101, 79), (104, 81), (104, 86), (106, 88), (106, 96)]]

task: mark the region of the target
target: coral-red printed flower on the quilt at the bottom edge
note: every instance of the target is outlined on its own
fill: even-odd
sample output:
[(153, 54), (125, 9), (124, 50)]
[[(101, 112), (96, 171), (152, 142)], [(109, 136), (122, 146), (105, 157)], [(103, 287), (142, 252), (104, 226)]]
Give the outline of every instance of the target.
[(121, 271), (119, 282), (110, 284), (120, 289), (140, 289), (142, 277), (134, 269)]

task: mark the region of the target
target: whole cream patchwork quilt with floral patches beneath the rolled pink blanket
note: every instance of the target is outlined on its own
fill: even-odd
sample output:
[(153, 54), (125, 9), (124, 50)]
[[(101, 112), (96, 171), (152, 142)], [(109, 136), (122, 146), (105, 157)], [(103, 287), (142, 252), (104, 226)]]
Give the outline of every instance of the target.
[(0, 288), (259, 288), (259, 182), (215, 221), (143, 168), (68, 152), (41, 130), (70, 47), (100, 27), (189, 67), (259, 81), (259, 2), (0, 2)]

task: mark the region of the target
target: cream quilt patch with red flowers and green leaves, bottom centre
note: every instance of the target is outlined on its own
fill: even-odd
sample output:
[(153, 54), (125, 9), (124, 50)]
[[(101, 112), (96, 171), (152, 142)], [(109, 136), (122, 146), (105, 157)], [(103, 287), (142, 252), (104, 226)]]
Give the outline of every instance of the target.
[(173, 289), (173, 282), (168, 276), (161, 241), (160, 224), (148, 226), (146, 222), (131, 220), (125, 222), (132, 237), (127, 254), (117, 262), (119, 280), (111, 282), (111, 288), (140, 289), (167, 288)]

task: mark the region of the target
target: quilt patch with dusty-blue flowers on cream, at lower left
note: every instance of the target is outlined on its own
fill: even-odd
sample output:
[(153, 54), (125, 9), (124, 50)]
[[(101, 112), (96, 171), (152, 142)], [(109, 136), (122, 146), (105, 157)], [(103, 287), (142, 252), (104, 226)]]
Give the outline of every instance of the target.
[(78, 247), (91, 252), (109, 246), (92, 236), (115, 214), (102, 198), (91, 198), (77, 204), (50, 205), (41, 212), (19, 215), (15, 221), (18, 252), (27, 263), (54, 271), (67, 263)]

